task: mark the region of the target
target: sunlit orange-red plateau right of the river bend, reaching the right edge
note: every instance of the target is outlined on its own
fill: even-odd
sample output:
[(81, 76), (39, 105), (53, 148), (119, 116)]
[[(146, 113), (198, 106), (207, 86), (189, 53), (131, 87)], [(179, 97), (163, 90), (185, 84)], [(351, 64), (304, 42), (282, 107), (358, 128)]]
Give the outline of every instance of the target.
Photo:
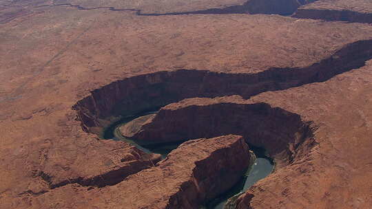
[[(318, 125), (317, 146), (258, 181), (236, 208), (369, 208), (371, 198), (372, 60), (325, 83), (266, 92), (250, 99)], [(358, 188), (358, 189), (356, 189)], [(270, 198), (270, 201), (262, 199)]]

